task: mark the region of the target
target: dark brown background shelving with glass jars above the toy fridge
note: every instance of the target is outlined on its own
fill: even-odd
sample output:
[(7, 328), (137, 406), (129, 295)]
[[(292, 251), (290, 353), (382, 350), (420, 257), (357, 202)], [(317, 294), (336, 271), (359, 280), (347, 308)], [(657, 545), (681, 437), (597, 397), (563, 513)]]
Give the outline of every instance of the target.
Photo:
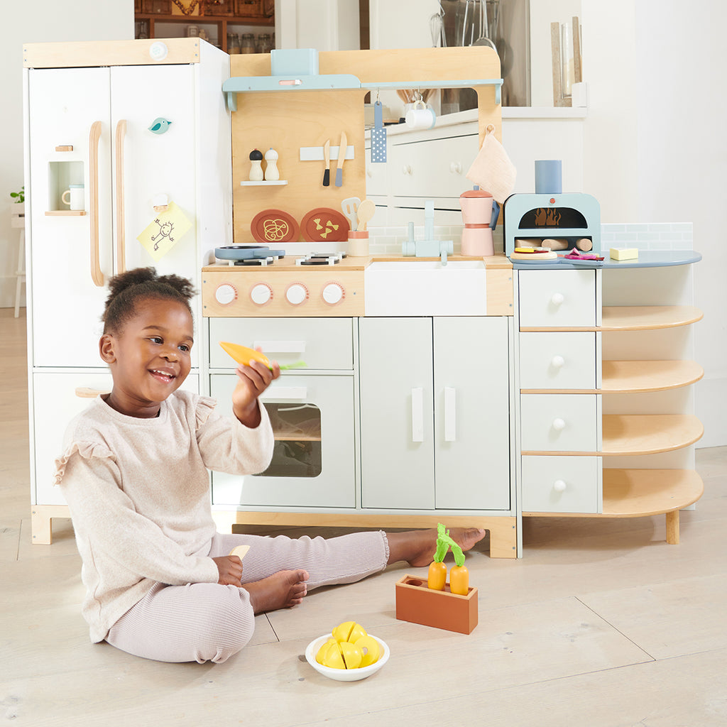
[(228, 53), (263, 53), (273, 47), (268, 28), (275, 17), (268, 0), (135, 0), (134, 9), (136, 38), (198, 36)]

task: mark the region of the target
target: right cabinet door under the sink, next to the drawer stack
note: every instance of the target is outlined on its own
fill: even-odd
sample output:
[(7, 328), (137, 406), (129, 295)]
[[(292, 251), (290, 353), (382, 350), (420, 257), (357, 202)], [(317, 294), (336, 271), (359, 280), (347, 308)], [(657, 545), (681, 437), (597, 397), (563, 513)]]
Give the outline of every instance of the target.
[(507, 318), (434, 318), (435, 505), (510, 509)]

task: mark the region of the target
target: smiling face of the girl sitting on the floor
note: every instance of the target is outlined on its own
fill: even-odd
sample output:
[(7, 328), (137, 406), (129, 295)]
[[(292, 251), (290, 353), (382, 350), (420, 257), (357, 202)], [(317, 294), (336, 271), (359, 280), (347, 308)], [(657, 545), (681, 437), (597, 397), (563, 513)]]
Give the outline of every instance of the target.
[(192, 316), (185, 305), (148, 298), (117, 333), (103, 334), (101, 358), (111, 367), (106, 403), (129, 417), (156, 417), (159, 405), (187, 378), (193, 345)]

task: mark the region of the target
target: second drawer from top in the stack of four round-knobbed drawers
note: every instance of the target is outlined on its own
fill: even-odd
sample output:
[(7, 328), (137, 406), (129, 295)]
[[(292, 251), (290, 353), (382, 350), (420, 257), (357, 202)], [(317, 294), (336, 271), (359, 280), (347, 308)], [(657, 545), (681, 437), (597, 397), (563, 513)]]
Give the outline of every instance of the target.
[(600, 335), (593, 332), (521, 333), (521, 389), (601, 388)]

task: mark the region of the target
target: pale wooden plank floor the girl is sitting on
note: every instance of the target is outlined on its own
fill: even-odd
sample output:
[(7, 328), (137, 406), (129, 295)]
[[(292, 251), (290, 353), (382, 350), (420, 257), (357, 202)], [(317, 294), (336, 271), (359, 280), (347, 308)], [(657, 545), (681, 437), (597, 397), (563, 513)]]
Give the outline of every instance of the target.
[[(664, 517), (531, 519), (518, 561), (467, 559), (469, 635), (394, 616), (394, 566), (258, 616), (226, 664), (161, 664), (89, 643), (68, 521), (31, 545), (25, 318), (0, 310), (0, 721), (41, 726), (704, 727), (727, 724), (727, 448), (697, 452), (705, 494)], [(413, 569), (417, 572), (417, 569)], [(425, 571), (419, 569), (419, 574)], [(358, 683), (318, 675), (310, 640), (356, 619), (391, 648)]]

